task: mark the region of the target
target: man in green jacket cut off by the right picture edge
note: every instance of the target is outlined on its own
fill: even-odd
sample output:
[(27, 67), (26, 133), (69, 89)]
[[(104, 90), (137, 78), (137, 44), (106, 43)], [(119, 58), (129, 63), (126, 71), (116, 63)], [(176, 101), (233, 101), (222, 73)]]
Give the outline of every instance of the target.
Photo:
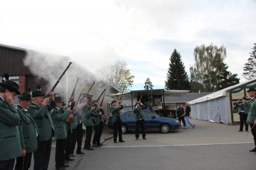
[(247, 91), (251, 97), (251, 100), (249, 102), (249, 112), (246, 123), (250, 124), (250, 127), (252, 128), (252, 135), (254, 139), (255, 148), (250, 150), (250, 152), (256, 152), (256, 89), (254, 87), (250, 87)]

